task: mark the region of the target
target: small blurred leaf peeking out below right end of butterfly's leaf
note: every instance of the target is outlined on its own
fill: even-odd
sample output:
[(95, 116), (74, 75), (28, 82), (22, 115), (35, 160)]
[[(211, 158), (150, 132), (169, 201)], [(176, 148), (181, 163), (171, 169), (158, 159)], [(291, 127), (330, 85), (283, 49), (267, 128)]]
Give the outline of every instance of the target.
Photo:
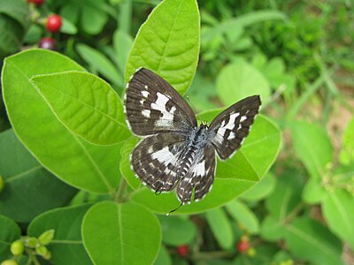
[(266, 173), (258, 184), (252, 186), (248, 191), (242, 193), (240, 198), (245, 201), (260, 201), (265, 199), (275, 188), (275, 177), (272, 172)]

